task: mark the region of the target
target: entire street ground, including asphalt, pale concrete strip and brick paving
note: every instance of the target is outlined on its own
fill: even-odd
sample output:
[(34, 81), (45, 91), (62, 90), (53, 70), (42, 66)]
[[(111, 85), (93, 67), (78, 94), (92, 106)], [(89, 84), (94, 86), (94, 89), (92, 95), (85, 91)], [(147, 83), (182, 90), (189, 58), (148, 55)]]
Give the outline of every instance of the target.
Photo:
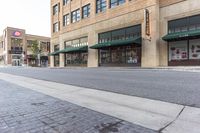
[(199, 79), (156, 69), (2, 67), (0, 132), (196, 133)]

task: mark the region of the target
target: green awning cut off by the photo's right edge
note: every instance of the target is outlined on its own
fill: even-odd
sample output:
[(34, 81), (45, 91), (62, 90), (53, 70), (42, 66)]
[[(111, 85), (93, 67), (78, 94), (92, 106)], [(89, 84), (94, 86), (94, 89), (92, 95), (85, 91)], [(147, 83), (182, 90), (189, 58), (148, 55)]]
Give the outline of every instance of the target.
[(200, 36), (200, 30), (191, 30), (185, 32), (170, 33), (165, 35), (162, 39), (165, 41), (180, 40), (189, 37)]

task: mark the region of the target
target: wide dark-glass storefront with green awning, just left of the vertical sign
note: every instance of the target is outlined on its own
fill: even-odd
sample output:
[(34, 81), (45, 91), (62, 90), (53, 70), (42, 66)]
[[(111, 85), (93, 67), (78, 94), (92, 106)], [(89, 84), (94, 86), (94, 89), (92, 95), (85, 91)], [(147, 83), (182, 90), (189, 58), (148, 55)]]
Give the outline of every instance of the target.
[(141, 25), (99, 34), (99, 66), (141, 66)]

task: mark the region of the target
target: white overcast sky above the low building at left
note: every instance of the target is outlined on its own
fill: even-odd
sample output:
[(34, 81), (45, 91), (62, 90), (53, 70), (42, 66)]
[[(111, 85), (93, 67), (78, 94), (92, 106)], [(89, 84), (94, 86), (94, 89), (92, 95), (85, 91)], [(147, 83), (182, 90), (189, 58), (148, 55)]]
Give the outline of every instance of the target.
[(50, 0), (0, 0), (0, 35), (6, 27), (50, 37)]

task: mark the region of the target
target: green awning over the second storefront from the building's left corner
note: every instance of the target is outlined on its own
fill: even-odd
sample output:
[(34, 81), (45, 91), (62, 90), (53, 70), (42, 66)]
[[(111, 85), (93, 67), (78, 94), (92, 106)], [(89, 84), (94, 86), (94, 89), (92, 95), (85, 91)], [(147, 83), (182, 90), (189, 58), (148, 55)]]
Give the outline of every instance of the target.
[(87, 52), (88, 46), (81, 47), (69, 47), (61, 50), (59, 53), (70, 53), (70, 52)]

